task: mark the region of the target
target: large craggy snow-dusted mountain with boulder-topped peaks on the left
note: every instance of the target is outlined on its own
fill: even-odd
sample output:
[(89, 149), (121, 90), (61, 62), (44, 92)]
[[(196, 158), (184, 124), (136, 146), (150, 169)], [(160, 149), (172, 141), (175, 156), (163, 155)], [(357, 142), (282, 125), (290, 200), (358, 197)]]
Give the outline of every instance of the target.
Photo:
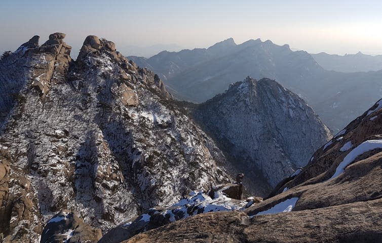
[(92, 35), (73, 61), (64, 37), (34, 36), (0, 60), (1, 242), (98, 240), (194, 188), (232, 181), (157, 75)]

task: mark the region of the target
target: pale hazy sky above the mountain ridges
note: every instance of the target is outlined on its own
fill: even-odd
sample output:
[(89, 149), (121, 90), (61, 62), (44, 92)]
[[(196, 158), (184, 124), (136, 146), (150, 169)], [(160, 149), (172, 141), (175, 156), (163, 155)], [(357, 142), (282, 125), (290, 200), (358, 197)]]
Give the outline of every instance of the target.
[[(382, 54), (382, 1), (0, 0), (0, 52), (31, 36), (66, 33), (78, 53), (89, 34), (127, 45), (208, 47), (270, 39), (310, 53)], [(129, 53), (124, 53), (129, 55)]]

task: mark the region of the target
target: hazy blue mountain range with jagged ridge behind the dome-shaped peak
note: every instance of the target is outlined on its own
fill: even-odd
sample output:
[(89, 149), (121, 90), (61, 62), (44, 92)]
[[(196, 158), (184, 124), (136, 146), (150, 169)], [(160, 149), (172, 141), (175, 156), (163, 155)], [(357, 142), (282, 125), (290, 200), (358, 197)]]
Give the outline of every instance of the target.
[(207, 49), (129, 58), (158, 73), (178, 99), (198, 103), (247, 75), (275, 79), (303, 98), (333, 131), (339, 131), (382, 96), (382, 71), (328, 71), (307, 52), (292, 52), (289, 45), (270, 40), (236, 44), (227, 39)]

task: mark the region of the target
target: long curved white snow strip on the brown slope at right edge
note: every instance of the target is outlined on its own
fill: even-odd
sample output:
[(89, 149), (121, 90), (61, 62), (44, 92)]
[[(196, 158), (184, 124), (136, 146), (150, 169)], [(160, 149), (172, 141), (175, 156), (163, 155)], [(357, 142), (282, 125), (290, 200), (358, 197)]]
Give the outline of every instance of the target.
[(351, 164), (358, 156), (375, 149), (382, 149), (382, 140), (367, 140), (362, 142), (355, 149), (353, 149), (345, 158), (343, 158), (342, 162), (339, 163), (334, 174), (332, 175), (332, 177), (330, 177), (330, 179), (337, 177), (343, 171), (345, 171), (345, 168), (349, 164)]

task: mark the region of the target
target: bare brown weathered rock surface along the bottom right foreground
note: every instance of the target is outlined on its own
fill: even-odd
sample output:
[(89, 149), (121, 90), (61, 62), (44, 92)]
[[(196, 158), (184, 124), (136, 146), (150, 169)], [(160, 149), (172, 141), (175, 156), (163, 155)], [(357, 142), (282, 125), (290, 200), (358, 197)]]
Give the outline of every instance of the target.
[(150, 230), (123, 243), (171, 242), (380, 242), (382, 200), (343, 206), (260, 215), (243, 212), (197, 215)]

